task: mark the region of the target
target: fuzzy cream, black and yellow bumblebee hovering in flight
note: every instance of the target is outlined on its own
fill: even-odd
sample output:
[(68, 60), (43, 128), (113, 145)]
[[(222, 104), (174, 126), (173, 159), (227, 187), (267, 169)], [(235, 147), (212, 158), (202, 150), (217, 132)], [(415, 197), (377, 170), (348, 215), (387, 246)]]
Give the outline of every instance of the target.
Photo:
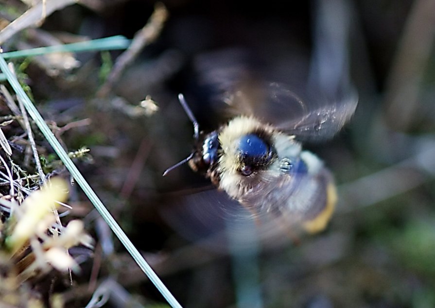
[[(189, 215), (201, 220), (207, 211), (209, 216), (224, 213), (274, 231), (323, 230), (334, 211), (336, 189), (330, 171), (316, 155), (302, 149), (301, 141), (330, 139), (355, 112), (357, 96), (349, 91), (335, 100), (318, 95), (310, 100), (276, 82), (250, 81), (234, 89), (222, 99), (238, 115), (209, 133), (199, 131), (184, 96), (178, 97), (193, 123), (195, 146), (189, 157), (164, 175), (188, 162), (239, 207), (219, 201), (207, 210), (203, 201), (190, 201), (199, 205)], [(209, 228), (209, 224), (202, 225)]]

